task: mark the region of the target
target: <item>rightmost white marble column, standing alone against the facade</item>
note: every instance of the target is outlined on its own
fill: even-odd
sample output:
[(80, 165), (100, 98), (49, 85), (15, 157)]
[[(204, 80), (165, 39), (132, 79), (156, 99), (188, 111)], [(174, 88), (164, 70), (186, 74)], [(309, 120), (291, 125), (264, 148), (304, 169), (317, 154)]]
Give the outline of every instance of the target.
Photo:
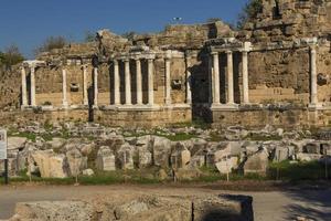
[(316, 45), (310, 46), (310, 105), (318, 104), (318, 85), (317, 85), (317, 50)]

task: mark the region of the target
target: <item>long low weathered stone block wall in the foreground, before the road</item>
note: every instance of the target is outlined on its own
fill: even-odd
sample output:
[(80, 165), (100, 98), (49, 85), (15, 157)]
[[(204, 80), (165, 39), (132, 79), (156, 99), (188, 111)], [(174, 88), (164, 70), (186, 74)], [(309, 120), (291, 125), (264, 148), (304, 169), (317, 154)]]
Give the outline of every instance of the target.
[[(106, 197), (106, 196), (105, 196)], [(110, 196), (109, 196), (110, 197)], [(41, 201), (17, 204), (10, 221), (253, 221), (252, 197), (137, 197), (111, 196), (111, 200)]]

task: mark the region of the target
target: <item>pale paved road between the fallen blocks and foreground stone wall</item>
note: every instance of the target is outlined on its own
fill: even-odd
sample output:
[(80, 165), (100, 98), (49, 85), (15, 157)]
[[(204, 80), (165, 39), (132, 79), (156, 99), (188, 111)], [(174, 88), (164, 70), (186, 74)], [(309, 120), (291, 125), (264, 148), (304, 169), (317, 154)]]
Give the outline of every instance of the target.
[(205, 194), (239, 193), (254, 198), (254, 213), (257, 221), (291, 220), (297, 215), (320, 221), (331, 221), (331, 189), (324, 190), (286, 190), (269, 192), (235, 192), (207, 188), (182, 188), (166, 186), (65, 186), (65, 187), (0, 187), (0, 219), (8, 219), (14, 213), (14, 206), (22, 201), (65, 200), (95, 194)]

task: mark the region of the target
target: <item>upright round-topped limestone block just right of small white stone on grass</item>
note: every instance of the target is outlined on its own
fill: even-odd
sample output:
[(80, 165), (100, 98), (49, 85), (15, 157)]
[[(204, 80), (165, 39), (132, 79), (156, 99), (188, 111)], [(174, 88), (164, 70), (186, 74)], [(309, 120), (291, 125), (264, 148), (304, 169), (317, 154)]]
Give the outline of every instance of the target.
[(96, 168), (103, 171), (116, 170), (115, 155), (107, 146), (102, 146), (97, 154)]

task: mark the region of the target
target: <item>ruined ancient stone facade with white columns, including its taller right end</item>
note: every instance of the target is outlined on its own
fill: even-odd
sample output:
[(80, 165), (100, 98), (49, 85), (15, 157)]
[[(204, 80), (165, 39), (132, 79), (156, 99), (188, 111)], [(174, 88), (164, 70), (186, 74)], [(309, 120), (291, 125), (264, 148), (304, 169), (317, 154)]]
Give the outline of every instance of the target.
[(102, 30), (24, 62), (13, 99), (25, 114), (114, 126), (327, 126), (330, 40), (329, 0), (264, 0), (239, 31), (221, 21), (130, 39)]

